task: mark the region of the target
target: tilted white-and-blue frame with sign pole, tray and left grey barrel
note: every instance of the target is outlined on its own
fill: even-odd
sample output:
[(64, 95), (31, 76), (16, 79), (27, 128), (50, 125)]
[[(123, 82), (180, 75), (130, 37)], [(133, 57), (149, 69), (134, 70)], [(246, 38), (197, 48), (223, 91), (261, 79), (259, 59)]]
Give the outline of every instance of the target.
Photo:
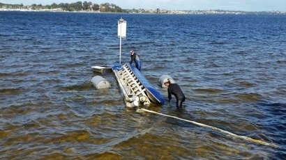
[[(137, 67), (129, 64), (121, 65), (121, 39), (126, 38), (126, 21), (122, 18), (118, 21), (119, 46), (119, 64), (113, 67), (92, 66), (93, 71), (105, 72), (112, 70), (119, 88), (124, 97), (127, 107), (142, 107), (150, 104), (164, 104), (162, 95), (149, 83), (144, 75), (137, 70)], [(103, 77), (93, 77), (93, 85), (96, 88), (109, 88), (109, 84)]]

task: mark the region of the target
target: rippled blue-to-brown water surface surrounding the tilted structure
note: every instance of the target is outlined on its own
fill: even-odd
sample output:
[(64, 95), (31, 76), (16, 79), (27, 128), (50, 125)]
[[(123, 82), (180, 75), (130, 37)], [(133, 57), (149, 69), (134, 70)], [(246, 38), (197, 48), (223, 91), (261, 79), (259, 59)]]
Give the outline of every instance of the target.
[[(112, 72), (135, 49), (158, 86), (170, 75), (183, 109), (148, 109), (278, 145), (126, 109)], [(0, 159), (284, 159), (285, 15), (0, 12)], [(112, 87), (96, 90), (100, 75)]]

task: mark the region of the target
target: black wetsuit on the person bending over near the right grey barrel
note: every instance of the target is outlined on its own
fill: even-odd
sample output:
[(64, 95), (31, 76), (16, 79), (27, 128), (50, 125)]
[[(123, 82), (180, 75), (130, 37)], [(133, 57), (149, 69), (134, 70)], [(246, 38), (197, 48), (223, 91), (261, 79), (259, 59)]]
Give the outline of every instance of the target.
[(182, 107), (182, 103), (185, 102), (185, 95), (183, 95), (183, 91), (176, 83), (170, 83), (168, 88), (168, 98), (169, 101), (172, 99), (172, 95), (176, 97), (176, 107)]

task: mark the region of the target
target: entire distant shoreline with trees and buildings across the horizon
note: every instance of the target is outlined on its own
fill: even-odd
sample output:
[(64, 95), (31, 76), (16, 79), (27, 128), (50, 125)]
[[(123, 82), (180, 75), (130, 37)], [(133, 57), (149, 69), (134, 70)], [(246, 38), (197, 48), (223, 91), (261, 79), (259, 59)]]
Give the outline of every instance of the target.
[(175, 14), (255, 14), (255, 15), (286, 15), (282, 11), (261, 11), (261, 12), (247, 12), (247, 11), (232, 11), (232, 10), (154, 10), (140, 9), (122, 9), (114, 3), (92, 3), (91, 1), (77, 1), (75, 3), (52, 3), (51, 5), (43, 6), (42, 4), (32, 4), (31, 6), (24, 6), (20, 4), (6, 4), (0, 3), (0, 9), (27, 9), (27, 10), (54, 10), (60, 9), (63, 11), (86, 11), (86, 12), (100, 12), (100, 13), (175, 13)]

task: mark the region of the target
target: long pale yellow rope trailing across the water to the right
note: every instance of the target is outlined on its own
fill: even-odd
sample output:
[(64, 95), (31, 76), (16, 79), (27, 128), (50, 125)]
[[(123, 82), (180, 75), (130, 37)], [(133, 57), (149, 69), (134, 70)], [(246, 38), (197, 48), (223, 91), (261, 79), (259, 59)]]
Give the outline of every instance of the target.
[(219, 129), (217, 127), (212, 127), (212, 126), (209, 126), (209, 125), (204, 125), (200, 122), (195, 122), (195, 121), (192, 121), (192, 120), (185, 120), (183, 118), (178, 118), (178, 117), (175, 117), (175, 116), (172, 116), (172, 115), (166, 115), (166, 114), (163, 114), (163, 113), (158, 113), (156, 111), (151, 111), (151, 110), (148, 110), (148, 109), (139, 109), (139, 110), (142, 110), (142, 111), (146, 111), (146, 112), (149, 112), (149, 113), (155, 113), (155, 114), (158, 114), (158, 115), (163, 115), (163, 116), (166, 116), (166, 117), (170, 117), (170, 118), (175, 118), (175, 119), (178, 119), (178, 120), (183, 120), (183, 121), (186, 121), (186, 122), (191, 122), (195, 125), (199, 125), (201, 127), (207, 127), (207, 128), (210, 128), (210, 129), (213, 129), (213, 130), (216, 130), (216, 131), (221, 131), (225, 134), (229, 134), (230, 136), (235, 136), (235, 137), (238, 137), (238, 138), (243, 138), (245, 139), (246, 141), (251, 141), (251, 142), (254, 142), (254, 143), (259, 143), (259, 144), (262, 144), (262, 145), (268, 145), (268, 146), (271, 146), (271, 147), (276, 147), (278, 148), (278, 145), (274, 145), (273, 143), (267, 143), (267, 142), (264, 142), (264, 141), (259, 141), (259, 140), (256, 140), (256, 139), (253, 139), (253, 138), (250, 138), (250, 137), (247, 137), (247, 136), (239, 136), (237, 134), (233, 134), (232, 132), (229, 132), (229, 131), (225, 131), (223, 129)]

